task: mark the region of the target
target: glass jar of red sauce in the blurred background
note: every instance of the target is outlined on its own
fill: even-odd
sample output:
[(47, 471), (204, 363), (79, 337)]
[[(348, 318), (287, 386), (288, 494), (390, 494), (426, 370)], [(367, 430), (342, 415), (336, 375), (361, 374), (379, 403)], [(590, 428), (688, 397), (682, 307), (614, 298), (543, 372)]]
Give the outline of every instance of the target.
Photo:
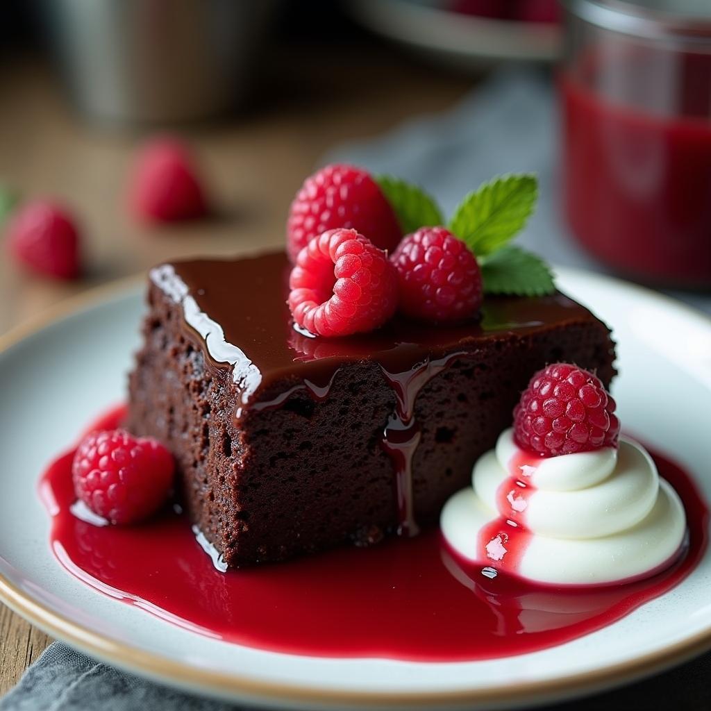
[(573, 234), (622, 274), (711, 289), (711, 0), (565, 7), (563, 199)]

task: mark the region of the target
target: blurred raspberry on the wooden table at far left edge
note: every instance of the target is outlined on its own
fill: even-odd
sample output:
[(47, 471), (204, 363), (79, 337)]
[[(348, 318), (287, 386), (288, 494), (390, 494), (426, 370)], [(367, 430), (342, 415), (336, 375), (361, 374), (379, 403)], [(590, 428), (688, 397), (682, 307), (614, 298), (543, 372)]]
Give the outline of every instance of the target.
[(69, 213), (49, 201), (27, 203), (11, 218), (8, 247), (19, 262), (55, 279), (79, 276), (79, 232)]

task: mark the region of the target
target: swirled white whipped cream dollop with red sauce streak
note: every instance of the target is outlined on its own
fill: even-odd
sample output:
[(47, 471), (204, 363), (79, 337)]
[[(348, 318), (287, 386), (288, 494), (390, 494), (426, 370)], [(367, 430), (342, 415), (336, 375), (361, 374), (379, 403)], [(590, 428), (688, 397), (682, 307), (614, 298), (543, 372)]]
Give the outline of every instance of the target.
[(655, 572), (686, 532), (677, 493), (651, 456), (619, 449), (541, 459), (513, 430), (474, 466), (472, 488), (442, 510), (442, 533), (461, 556), (552, 584), (600, 584)]

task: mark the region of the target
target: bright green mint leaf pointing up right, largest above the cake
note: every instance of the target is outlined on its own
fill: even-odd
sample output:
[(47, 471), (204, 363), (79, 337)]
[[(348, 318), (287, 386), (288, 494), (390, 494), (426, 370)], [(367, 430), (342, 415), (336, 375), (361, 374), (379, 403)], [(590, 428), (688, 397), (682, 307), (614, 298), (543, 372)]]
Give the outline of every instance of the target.
[(493, 178), (459, 203), (449, 229), (477, 257), (490, 255), (523, 228), (537, 199), (538, 180), (530, 173)]

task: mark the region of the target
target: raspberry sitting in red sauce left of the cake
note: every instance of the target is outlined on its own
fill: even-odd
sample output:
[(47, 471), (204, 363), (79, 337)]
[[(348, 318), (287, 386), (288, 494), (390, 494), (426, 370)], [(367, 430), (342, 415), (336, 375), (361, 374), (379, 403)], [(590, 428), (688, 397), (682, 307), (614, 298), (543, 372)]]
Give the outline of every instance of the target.
[(137, 523), (164, 503), (174, 469), (173, 456), (155, 439), (123, 429), (91, 432), (74, 455), (74, 491), (111, 523)]

